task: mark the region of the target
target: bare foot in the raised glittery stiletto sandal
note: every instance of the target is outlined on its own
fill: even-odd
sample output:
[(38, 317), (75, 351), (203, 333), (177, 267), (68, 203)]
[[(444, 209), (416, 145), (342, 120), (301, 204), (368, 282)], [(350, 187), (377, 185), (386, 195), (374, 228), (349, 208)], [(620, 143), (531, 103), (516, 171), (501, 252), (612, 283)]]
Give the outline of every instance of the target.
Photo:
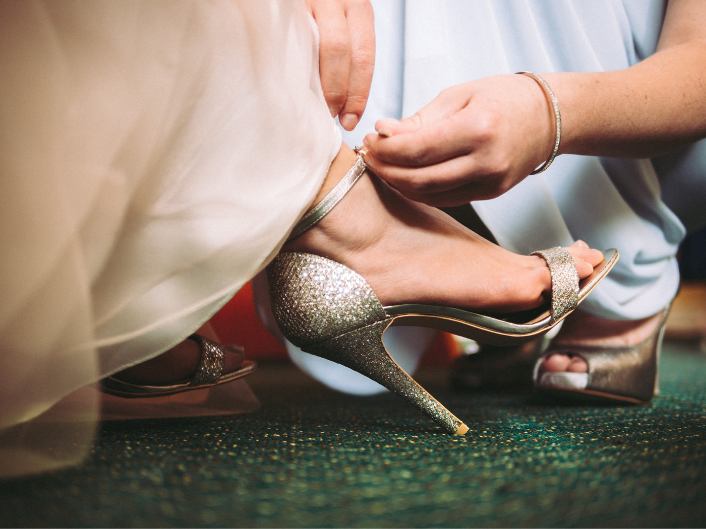
[[(342, 147), (314, 203), (355, 159), (352, 150)], [(549, 300), (551, 276), (542, 257), (503, 250), (370, 174), (362, 176), (321, 222), (284, 249), (323, 255), (354, 269), (383, 305), (416, 302), (514, 312)], [(603, 260), (601, 252), (580, 241), (567, 250), (580, 279)]]

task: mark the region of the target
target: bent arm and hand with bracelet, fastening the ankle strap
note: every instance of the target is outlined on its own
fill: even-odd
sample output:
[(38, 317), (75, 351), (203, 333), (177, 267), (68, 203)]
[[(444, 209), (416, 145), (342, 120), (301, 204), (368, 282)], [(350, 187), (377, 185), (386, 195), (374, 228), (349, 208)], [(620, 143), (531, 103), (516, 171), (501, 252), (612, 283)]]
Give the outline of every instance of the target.
[[(624, 70), (547, 73), (559, 154), (651, 158), (706, 138), (706, 2), (670, 0), (657, 51)], [(383, 119), (364, 145), (373, 171), (430, 205), (496, 197), (543, 164), (554, 116), (527, 75), (448, 88), (412, 118)]]

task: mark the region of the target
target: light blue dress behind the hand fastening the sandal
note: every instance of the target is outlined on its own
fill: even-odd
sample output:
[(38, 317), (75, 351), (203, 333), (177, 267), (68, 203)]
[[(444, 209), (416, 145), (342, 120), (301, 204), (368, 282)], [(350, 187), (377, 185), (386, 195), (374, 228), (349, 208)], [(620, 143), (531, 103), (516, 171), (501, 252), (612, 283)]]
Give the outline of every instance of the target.
[[(382, 117), (410, 116), (446, 87), (488, 75), (611, 71), (654, 53), (664, 0), (373, 0), (376, 72), (359, 144)], [(539, 87), (538, 87), (539, 90)], [(559, 101), (561, 107), (561, 101)], [(614, 319), (664, 308), (676, 251), (706, 224), (706, 142), (660, 159), (564, 154), (543, 174), (473, 206), (517, 253), (577, 239), (621, 259), (582, 305)], [(685, 227), (686, 226), (686, 227)]]

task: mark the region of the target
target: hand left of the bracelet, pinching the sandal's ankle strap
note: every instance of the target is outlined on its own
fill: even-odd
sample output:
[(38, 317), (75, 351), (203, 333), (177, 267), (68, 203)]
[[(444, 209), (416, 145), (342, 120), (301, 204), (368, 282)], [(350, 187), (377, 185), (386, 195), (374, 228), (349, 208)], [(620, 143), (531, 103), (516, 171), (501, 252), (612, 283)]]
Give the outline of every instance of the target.
[(554, 114), (526, 75), (496, 75), (450, 87), (400, 121), (376, 123), (366, 162), (417, 202), (452, 206), (502, 195), (554, 148)]

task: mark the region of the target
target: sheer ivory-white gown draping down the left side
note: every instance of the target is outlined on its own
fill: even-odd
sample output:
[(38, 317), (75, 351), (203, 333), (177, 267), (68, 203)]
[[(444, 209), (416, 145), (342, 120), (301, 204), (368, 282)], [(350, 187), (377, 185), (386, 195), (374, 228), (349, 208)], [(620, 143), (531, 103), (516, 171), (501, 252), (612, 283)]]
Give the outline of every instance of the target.
[(188, 336), (313, 200), (340, 133), (302, 4), (0, 3), (0, 473), (77, 461), (95, 399), (28, 421)]

